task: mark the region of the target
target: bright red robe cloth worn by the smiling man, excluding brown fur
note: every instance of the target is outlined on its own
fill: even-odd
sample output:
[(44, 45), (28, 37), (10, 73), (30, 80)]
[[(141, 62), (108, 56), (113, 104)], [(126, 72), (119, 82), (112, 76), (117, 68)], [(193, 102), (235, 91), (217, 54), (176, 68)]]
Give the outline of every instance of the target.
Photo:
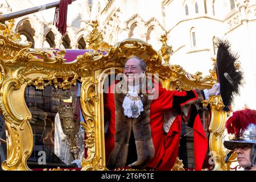
[[(156, 88), (155, 84), (155, 88)], [(114, 84), (110, 86), (113, 91)], [(150, 126), (151, 136), (155, 147), (154, 158), (147, 164), (147, 167), (158, 170), (170, 170), (174, 166), (175, 160), (179, 151), (179, 140), (181, 134), (181, 112), (182, 106), (188, 104), (190, 101), (195, 101), (198, 98), (195, 90), (191, 91), (170, 91), (163, 89), (155, 89), (159, 92), (157, 99), (152, 100), (150, 106)], [(109, 129), (105, 135), (105, 150), (106, 163), (110, 152), (114, 148), (115, 135), (115, 105), (114, 94), (110, 92), (104, 96), (105, 115), (110, 117)], [(164, 134), (163, 121), (164, 112), (175, 109), (177, 110), (177, 117), (172, 123), (170, 130)], [(196, 113), (195, 113), (196, 112)], [(195, 150), (195, 168), (201, 170), (203, 166), (205, 154), (207, 152), (208, 140), (204, 133), (203, 125), (199, 118), (199, 114), (193, 109), (193, 134), (194, 134), (194, 150)], [(189, 118), (191, 119), (191, 118)], [(191, 122), (189, 122), (191, 123)]]

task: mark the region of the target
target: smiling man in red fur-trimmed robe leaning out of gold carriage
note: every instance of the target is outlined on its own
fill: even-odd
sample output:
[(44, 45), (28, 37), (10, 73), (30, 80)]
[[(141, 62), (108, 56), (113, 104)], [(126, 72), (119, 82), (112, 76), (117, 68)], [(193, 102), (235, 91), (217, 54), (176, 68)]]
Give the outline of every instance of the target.
[[(185, 117), (194, 131), (195, 168), (201, 170), (208, 140), (194, 104), (217, 94), (218, 86), (178, 92), (163, 89), (153, 81), (150, 88), (148, 81), (143, 81), (145, 72), (146, 63), (130, 57), (123, 80), (112, 84), (104, 96), (109, 117), (105, 135), (107, 167), (172, 169), (179, 150), (181, 118)], [(167, 123), (164, 113), (171, 115)]]

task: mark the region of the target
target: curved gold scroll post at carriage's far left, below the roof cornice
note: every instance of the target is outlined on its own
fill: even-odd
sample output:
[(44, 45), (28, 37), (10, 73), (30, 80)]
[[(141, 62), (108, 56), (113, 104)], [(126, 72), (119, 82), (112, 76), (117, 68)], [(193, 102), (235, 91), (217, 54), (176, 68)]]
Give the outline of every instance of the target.
[(20, 100), (25, 88), (16, 78), (7, 80), (2, 86), (0, 107), (6, 119), (7, 131), (7, 159), (2, 164), (5, 170), (29, 170), (26, 160), (33, 146), (32, 130), (28, 122), (31, 114), (23, 100)]

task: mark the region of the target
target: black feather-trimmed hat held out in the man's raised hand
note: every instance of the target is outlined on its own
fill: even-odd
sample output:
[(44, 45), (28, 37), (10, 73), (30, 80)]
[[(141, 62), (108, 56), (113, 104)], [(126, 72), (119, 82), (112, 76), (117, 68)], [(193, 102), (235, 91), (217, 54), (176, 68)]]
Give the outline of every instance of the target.
[(218, 48), (216, 71), (220, 83), (220, 94), (225, 105), (224, 110), (229, 111), (234, 96), (239, 94), (239, 86), (243, 84), (243, 73), (235, 65), (239, 56), (230, 51), (228, 40), (217, 39), (216, 46)]

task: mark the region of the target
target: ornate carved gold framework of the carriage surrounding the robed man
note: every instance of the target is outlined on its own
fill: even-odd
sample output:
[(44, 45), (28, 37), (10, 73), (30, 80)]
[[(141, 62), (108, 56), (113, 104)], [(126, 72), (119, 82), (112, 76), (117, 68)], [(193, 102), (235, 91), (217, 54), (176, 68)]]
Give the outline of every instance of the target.
[[(32, 152), (33, 136), (30, 126), (32, 116), (24, 100), (27, 86), (34, 85), (37, 89), (43, 89), (52, 84), (55, 88), (69, 89), (77, 80), (81, 81), (81, 108), (85, 118), (82, 125), (88, 137), (85, 141), (88, 158), (82, 160), (82, 170), (107, 170), (103, 94), (99, 91), (105, 74), (109, 75), (112, 68), (122, 72), (125, 59), (136, 55), (146, 61), (148, 73), (159, 73), (159, 80), (166, 89), (205, 89), (211, 88), (216, 82), (214, 71), (203, 78), (200, 72), (191, 75), (179, 65), (163, 66), (161, 53), (142, 40), (126, 39), (113, 47), (109, 46), (102, 41), (102, 35), (97, 31), (97, 22), (92, 23), (93, 32), (87, 42), (94, 51), (77, 56), (72, 63), (65, 63), (65, 50), (32, 49), (30, 43), (19, 43), (19, 34), (13, 32), (13, 21), (0, 24), (0, 107), (5, 117), (7, 134), (7, 159), (2, 163), (3, 169), (30, 170), (27, 159)], [(104, 55), (98, 49), (109, 52)], [(214, 170), (225, 170), (228, 166), (224, 162), (221, 136), (226, 114), (221, 111), (220, 97), (210, 98), (209, 102), (204, 102), (204, 105), (207, 104), (210, 104), (213, 113), (209, 127), (209, 146), (216, 159)], [(183, 169), (178, 159), (175, 169)]]

